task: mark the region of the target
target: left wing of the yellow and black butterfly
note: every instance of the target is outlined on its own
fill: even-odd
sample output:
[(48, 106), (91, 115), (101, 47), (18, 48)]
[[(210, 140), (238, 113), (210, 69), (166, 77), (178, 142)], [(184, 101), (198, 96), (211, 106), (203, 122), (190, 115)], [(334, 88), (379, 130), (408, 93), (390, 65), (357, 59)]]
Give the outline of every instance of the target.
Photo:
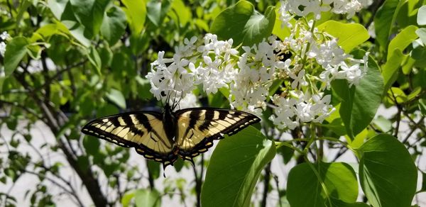
[(151, 160), (173, 164), (177, 155), (175, 145), (167, 138), (162, 114), (130, 112), (90, 121), (82, 132), (113, 142), (121, 147), (135, 147), (136, 152)]

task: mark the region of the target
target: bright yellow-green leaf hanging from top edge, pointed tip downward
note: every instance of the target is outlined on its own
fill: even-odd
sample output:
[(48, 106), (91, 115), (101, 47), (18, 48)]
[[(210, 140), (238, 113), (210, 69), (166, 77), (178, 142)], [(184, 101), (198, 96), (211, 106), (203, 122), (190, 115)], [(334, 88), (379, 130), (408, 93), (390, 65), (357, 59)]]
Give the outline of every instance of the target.
[(146, 20), (146, 3), (143, 0), (123, 0), (130, 29), (133, 35), (139, 35)]

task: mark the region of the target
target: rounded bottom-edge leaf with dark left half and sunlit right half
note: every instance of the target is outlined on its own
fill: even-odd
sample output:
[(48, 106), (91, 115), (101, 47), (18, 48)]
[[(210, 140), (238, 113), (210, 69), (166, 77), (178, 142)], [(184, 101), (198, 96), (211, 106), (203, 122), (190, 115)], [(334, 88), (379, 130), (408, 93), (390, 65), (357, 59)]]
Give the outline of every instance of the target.
[[(327, 191), (324, 191), (322, 184)], [(312, 166), (308, 163), (297, 164), (288, 174), (287, 198), (292, 207), (330, 206), (332, 198), (354, 203), (357, 197), (356, 174), (344, 162), (320, 162)]]

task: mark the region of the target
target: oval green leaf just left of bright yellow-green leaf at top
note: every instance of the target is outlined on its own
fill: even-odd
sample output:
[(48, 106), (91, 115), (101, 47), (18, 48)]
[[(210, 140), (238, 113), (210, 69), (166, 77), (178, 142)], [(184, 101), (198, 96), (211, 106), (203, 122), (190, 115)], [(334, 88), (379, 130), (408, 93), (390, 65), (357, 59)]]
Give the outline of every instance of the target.
[(114, 45), (121, 38), (126, 29), (126, 13), (119, 6), (111, 6), (104, 14), (101, 34), (108, 40), (109, 45)]

